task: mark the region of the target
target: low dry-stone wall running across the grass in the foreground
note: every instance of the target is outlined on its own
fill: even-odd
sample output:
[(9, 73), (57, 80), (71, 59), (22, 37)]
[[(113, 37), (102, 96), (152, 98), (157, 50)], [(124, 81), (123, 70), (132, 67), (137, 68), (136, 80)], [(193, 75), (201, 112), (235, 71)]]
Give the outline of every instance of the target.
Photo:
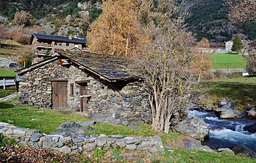
[(49, 147), (61, 152), (94, 151), (97, 147), (123, 147), (128, 150), (147, 151), (151, 153), (162, 152), (162, 140), (159, 135), (135, 136), (135, 135), (85, 135), (84, 132), (73, 132), (63, 135), (46, 135), (39, 130), (15, 127), (8, 123), (0, 122), (0, 133), (8, 138), (13, 138), (18, 143), (30, 146)]

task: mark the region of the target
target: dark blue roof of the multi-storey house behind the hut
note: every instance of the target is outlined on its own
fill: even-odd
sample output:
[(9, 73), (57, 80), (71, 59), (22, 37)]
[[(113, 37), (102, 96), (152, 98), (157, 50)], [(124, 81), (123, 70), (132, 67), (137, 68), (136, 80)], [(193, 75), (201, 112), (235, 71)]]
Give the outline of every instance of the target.
[[(72, 38), (69, 39), (67, 36), (60, 36), (60, 35), (44, 35), (39, 33), (33, 33), (31, 42), (33, 41), (33, 37), (39, 38), (39, 39), (47, 39), (52, 41), (63, 41), (63, 42), (70, 42), (70, 43), (86, 43), (87, 39), (84, 37), (78, 37), (78, 38)], [(30, 42), (30, 43), (31, 43)]]

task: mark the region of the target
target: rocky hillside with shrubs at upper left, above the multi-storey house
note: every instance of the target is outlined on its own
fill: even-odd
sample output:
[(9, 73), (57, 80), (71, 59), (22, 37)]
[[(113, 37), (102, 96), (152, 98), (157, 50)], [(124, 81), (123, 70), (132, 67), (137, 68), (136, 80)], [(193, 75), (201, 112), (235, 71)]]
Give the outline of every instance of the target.
[[(0, 23), (24, 25), (31, 32), (86, 35), (88, 25), (102, 12), (101, 0), (4, 0)], [(15, 14), (16, 13), (16, 14)], [(37, 29), (31, 29), (37, 25)], [(27, 30), (27, 31), (28, 31)]]

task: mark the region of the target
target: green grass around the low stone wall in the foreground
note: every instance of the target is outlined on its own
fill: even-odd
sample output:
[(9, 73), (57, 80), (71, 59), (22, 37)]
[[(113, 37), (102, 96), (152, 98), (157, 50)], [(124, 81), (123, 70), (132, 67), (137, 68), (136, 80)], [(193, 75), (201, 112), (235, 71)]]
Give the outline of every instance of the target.
[[(0, 122), (9, 122), (22, 128), (33, 128), (41, 130), (43, 133), (51, 133), (67, 120), (76, 122), (87, 120), (79, 114), (63, 114), (54, 110), (37, 109), (29, 106), (15, 106), (12, 102), (0, 102)], [(137, 123), (137, 122), (134, 122)], [(121, 134), (121, 135), (160, 135), (163, 143), (174, 141), (179, 134), (170, 132), (169, 134), (157, 133), (152, 130), (151, 125), (137, 123), (139, 130), (130, 129), (123, 125), (110, 125), (106, 122), (97, 122), (93, 125), (94, 131), (91, 133), (99, 134)], [(86, 133), (86, 134), (91, 134)], [(136, 152), (122, 150), (122, 153)], [(139, 159), (144, 160), (145, 154), (139, 155)], [(111, 155), (110, 155), (111, 157)], [(112, 158), (105, 158), (104, 160)], [(154, 158), (152, 158), (154, 159)], [(231, 153), (217, 154), (207, 151), (186, 150), (173, 147), (172, 151), (165, 149), (165, 154), (159, 154), (156, 162), (255, 162), (255, 159), (238, 156)]]

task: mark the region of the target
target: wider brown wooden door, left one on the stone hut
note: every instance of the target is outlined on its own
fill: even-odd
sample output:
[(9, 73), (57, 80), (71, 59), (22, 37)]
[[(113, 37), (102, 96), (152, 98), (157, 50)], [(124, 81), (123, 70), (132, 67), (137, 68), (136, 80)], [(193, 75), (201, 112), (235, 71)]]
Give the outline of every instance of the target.
[(51, 82), (52, 109), (67, 109), (67, 82)]

